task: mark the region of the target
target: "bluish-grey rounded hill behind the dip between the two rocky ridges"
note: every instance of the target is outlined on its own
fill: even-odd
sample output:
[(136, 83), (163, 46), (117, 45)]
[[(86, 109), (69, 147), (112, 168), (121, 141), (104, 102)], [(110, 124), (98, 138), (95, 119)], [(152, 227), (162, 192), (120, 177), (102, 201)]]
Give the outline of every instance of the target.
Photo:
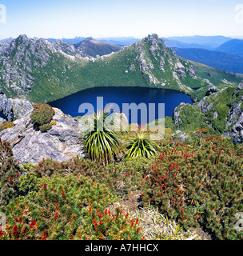
[(92, 38), (86, 38), (85, 40), (74, 45), (78, 50), (81, 50), (83, 54), (96, 57), (96, 55), (102, 56), (121, 50), (121, 46), (113, 45), (107, 42), (100, 42)]

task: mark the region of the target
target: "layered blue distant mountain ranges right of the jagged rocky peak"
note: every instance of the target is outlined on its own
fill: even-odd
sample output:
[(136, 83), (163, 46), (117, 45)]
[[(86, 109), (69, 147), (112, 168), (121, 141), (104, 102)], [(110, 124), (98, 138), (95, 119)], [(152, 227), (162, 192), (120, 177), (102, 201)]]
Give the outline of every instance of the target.
[(243, 40), (223, 36), (163, 38), (182, 58), (243, 74)]

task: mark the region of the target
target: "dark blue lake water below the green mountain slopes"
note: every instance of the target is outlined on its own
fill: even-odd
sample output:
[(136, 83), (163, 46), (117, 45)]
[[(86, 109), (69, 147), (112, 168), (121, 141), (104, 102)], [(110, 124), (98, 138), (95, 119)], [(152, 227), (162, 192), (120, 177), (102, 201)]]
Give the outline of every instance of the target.
[[(177, 90), (165, 90), (157, 88), (144, 88), (144, 87), (97, 87), (87, 90), (82, 90), (76, 94), (72, 94), (65, 98), (58, 99), (54, 102), (49, 102), (50, 106), (57, 107), (62, 110), (64, 114), (70, 114), (73, 117), (78, 115), (87, 114), (78, 113), (78, 108), (82, 103), (90, 103), (94, 106), (94, 111), (97, 110), (97, 98), (103, 97), (104, 106), (111, 102), (118, 104), (120, 112), (122, 112), (123, 103), (145, 103), (147, 106), (148, 122), (154, 121), (160, 118), (158, 107), (159, 103), (165, 104), (165, 116), (173, 116), (173, 110), (175, 107), (179, 106), (181, 102), (193, 104), (190, 97), (184, 93)], [(155, 103), (155, 115), (149, 115), (149, 103)], [(98, 109), (101, 109), (98, 107)], [(116, 107), (114, 107), (116, 110)], [(137, 123), (141, 124), (141, 111), (137, 112)], [(91, 113), (89, 113), (91, 114)], [(129, 122), (131, 122), (130, 116)]]

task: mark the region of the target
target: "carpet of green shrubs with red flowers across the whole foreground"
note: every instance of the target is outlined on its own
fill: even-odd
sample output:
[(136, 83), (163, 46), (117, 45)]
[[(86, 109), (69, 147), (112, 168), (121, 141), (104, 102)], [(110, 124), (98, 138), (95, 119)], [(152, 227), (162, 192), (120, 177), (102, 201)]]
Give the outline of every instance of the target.
[[(10, 143), (0, 140), (0, 212), (7, 217), (0, 239), (177, 239), (185, 234), (181, 226), (184, 231), (199, 227), (213, 239), (242, 239), (234, 225), (243, 212), (243, 147), (199, 131), (190, 145), (165, 136), (159, 157), (125, 158), (106, 166), (75, 158), (19, 167)], [(121, 210), (117, 219), (109, 214), (110, 206), (127, 202), (137, 190), (144, 210), (157, 206), (153, 214), (161, 226), (156, 234), (145, 217), (150, 210), (140, 211), (136, 226), (139, 217), (125, 218)], [(171, 224), (171, 236), (164, 234), (163, 223)]]

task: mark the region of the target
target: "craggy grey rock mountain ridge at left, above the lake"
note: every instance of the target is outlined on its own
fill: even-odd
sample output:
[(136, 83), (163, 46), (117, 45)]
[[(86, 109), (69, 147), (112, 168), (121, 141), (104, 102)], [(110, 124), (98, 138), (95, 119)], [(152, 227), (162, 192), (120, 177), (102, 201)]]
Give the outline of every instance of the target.
[(43, 38), (27, 38), (25, 34), (14, 39), (10, 44), (0, 44), (0, 82), (6, 90), (27, 94), (34, 86), (34, 73), (50, 62), (52, 54), (61, 53), (66, 58), (85, 58), (73, 45), (56, 41), (50, 43)]

